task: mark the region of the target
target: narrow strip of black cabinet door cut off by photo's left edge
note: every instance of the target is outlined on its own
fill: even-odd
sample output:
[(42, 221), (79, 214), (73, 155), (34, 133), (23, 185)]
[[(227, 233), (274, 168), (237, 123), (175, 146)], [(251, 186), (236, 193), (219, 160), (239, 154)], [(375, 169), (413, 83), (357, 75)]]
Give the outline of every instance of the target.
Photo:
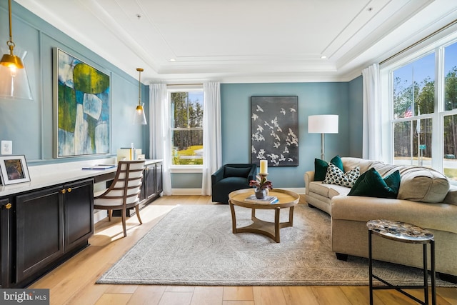
[(11, 281), (11, 203), (0, 199), (0, 288), (8, 288)]

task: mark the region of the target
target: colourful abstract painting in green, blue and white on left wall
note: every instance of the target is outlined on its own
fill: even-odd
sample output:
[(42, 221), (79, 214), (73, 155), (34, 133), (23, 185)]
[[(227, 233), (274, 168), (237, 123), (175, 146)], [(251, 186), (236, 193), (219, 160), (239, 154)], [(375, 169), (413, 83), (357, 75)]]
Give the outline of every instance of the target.
[(54, 157), (109, 154), (111, 79), (53, 49)]

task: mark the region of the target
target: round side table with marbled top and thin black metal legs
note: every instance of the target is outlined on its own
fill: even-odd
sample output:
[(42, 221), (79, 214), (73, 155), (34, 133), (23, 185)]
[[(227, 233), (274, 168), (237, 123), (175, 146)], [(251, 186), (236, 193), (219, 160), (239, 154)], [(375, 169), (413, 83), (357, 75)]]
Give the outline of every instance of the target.
[[(376, 219), (371, 220), (366, 223), (368, 227), (368, 272), (370, 277), (370, 304), (373, 304), (373, 290), (375, 289), (396, 289), (402, 294), (408, 296), (419, 304), (429, 304), (428, 303), (428, 273), (427, 273), (427, 244), (430, 244), (430, 253), (431, 253), (431, 304), (436, 305), (436, 291), (435, 291), (435, 241), (433, 239), (433, 234), (423, 229), (419, 226), (413, 224), (406, 224), (401, 221), (390, 221), (385, 219)], [(423, 251), (423, 285), (421, 286), (396, 286), (388, 283), (383, 279), (380, 279), (378, 276), (373, 274), (373, 259), (371, 254), (371, 236), (376, 234), (385, 239), (391, 239), (394, 241), (400, 241), (408, 244), (422, 244)], [(381, 281), (387, 286), (377, 286), (373, 287), (373, 279)], [(403, 289), (413, 289), (421, 288), (423, 289), (424, 301), (416, 298), (408, 292), (403, 291)]]

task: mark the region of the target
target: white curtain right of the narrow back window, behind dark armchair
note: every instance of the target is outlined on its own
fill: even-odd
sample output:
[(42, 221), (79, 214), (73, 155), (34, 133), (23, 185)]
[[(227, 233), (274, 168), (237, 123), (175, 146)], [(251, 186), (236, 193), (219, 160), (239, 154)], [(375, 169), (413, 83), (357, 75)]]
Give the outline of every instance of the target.
[(201, 194), (211, 195), (211, 174), (222, 163), (221, 153), (221, 84), (209, 82), (203, 85), (205, 101), (203, 111), (203, 179)]

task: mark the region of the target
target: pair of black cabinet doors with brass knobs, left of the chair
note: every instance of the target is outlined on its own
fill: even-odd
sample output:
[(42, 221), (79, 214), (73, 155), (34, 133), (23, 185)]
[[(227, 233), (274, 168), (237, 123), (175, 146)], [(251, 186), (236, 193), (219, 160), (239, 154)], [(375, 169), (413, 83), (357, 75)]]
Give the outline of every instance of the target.
[(87, 245), (94, 233), (93, 190), (86, 179), (16, 196), (16, 284)]

